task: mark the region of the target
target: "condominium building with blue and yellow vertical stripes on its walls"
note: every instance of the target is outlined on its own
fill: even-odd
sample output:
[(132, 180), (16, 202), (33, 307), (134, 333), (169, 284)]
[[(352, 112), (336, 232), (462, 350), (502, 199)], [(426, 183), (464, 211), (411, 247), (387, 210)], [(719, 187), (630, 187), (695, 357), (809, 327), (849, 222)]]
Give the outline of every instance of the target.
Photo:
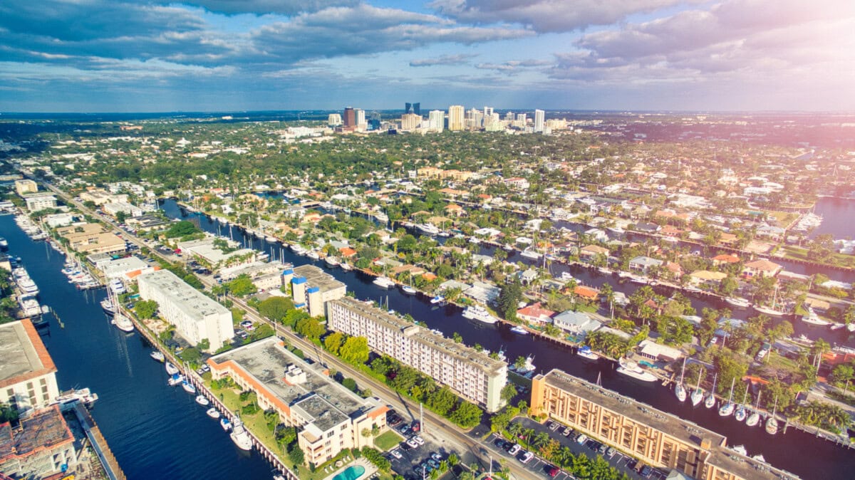
[(313, 317), (327, 314), (327, 302), (347, 293), (347, 285), (314, 265), (301, 265), (282, 272), (284, 283), (291, 284), (296, 307), (305, 307)]

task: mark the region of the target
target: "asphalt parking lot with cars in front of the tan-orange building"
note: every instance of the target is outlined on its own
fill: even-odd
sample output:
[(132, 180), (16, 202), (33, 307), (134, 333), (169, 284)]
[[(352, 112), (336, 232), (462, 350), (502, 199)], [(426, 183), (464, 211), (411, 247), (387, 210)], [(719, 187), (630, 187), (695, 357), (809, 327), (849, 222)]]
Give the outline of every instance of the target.
[[(584, 454), (589, 458), (595, 458), (598, 455), (598, 449), (600, 447), (600, 443), (588, 439), (584, 442), (584, 444), (580, 444), (575, 441), (576, 436), (578, 436), (578, 432), (573, 432), (569, 436), (564, 436), (562, 434), (564, 430), (564, 426), (556, 428), (555, 430), (551, 430), (549, 428), (549, 424), (551, 421), (548, 421), (546, 424), (539, 424), (532, 419), (524, 419), (517, 418), (514, 419), (515, 423), (522, 424), (522, 427), (525, 429), (534, 429), (534, 434), (537, 435), (540, 432), (546, 432), (549, 436), (557, 442), (561, 444), (562, 447), (567, 447), (570, 451), (575, 455)], [(499, 458), (504, 458), (516, 463), (516, 465), (523, 465), (522, 460), (525, 460), (525, 449), (520, 449), (516, 454), (511, 455), (508, 451), (498, 444), (498, 440), (503, 439), (502, 436), (498, 436), (497, 434), (493, 434), (490, 438), (490, 450), (493, 452), (493, 458), (496, 459), (497, 455)], [(624, 455), (620, 452), (614, 452), (612, 456), (609, 457), (606, 452), (608, 452), (608, 448), (602, 448), (603, 450), (603, 458), (609, 462), (609, 464), (615, 467), (621, 473), (626, 473), (628, 477), (634, 478), (636, 480), (644, 480), (646, 478), (652, 478), (655, 480), (663, 480), (665, 477), (668, 477), (667, 472), (659, 471), (657, 469), (651, 469), (649, 477), (642, 477), (637, 471), (634, 470), (636, 466), (636, 461), (627, 455)], [(531, 460), (525, 464), (525, 468), (529, 471), (533, 471), (534, 473), (538, 473), (543, 477), (549, 478), (551, 467), (554, 466), (550, 462), (540, 459), (536, 455), (534, 455)], [(553, 478), (557, 478), (560, 480), (565, 480), (568, 478), (572, 478), (566, 471), (560, 471)]]

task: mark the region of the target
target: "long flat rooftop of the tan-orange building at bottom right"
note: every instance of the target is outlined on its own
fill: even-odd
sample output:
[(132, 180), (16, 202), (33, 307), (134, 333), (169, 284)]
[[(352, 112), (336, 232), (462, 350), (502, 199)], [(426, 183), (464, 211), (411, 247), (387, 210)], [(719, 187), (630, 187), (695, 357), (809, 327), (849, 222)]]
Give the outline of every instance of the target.
[[(716, 465), (722, 470), (730, 471), (742, 478), (798, 478), (787, 471), (737, 454), (727, 448), (727, 437), (670, 413), (665, 413), (646, 403), (604, 389), (599, 385), (573, 377), (569, 373), (557, 369), (552, 369), (540, 377), (545, 379), (547, 385), (580, 396), (587, 401), (593, 401), (593, 403), (623, 415), (636, 423), (648, 425), (681, 442), (709, 452), (710, 455), (705, 460), (706, 463)], [(702, 448), (702, 440), (709, 440), (710, 448)]]

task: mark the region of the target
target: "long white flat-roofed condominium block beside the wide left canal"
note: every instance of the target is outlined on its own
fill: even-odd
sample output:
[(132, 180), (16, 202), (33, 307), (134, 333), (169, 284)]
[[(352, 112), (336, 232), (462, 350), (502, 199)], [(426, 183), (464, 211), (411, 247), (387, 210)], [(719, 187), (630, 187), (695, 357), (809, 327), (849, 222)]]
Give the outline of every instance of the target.
[(207, 338), (214, 351), (234, 337), (232, 313), (173, 272), (145, 273), (137, 283), (139, 296), (156, 301), (162, 318), (175, 325), (180, 336), (192, 345)]

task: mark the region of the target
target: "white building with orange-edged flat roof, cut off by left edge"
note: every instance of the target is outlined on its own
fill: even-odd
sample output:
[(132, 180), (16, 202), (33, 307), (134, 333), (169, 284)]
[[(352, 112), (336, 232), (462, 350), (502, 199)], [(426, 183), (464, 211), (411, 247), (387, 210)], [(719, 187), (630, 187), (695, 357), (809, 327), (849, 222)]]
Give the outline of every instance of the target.
[(0, 325), (0, 403), (20, 412), (59, 396), (56, 366), (29, 319)]

